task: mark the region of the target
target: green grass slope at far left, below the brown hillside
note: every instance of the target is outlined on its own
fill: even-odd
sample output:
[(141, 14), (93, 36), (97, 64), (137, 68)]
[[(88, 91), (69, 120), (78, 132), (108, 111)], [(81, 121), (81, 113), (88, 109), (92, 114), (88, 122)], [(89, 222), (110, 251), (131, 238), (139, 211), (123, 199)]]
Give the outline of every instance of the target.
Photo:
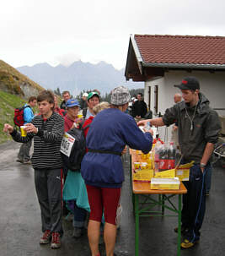
[(19, 96), (0, 90), (0, 144), (11, 139), (10, 135), (3, 133), (4, 123), (13, 125), (14, 108), (24, 106), (25, 103)]

